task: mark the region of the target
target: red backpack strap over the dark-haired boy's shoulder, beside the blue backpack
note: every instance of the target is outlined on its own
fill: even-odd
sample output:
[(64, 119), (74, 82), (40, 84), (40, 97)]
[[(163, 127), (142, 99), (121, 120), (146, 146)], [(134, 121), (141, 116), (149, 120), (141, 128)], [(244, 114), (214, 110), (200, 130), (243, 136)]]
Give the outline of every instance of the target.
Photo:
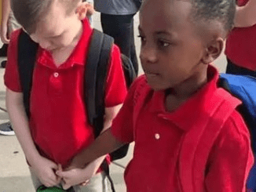
[(218, 89), (209, 101), (211, 113), (202, 115), (201, 125), (195, 125), (183, 137), (179, 157), (179, 181), (183, 192), (203, 192), (205, 170), (210, 150), (225, 121), (240, 104), (240, 100), (224, 89)]

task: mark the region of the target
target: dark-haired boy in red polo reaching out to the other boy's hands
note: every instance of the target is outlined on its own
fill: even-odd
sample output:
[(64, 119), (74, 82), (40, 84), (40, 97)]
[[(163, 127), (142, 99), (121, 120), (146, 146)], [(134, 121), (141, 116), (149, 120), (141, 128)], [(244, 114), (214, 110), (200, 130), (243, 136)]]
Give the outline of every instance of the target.
[[(233, 0), (145, 0), (141, 64), (112, 128), (75, 156), (81, 168), (135, 142), (126, 168), (131, 192), (242, 192), (253, 164), (241, 101), (218, 87), (212, 63), (233, 26)], [(69, 168), (57, 172), (74, 183)]]

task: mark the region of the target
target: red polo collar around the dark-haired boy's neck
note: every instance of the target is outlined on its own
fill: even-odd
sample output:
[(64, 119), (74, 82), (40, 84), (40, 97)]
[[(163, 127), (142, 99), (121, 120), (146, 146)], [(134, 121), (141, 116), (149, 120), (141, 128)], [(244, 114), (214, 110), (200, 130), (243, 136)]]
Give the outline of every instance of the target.
[(185, 103), (182, 103), (181, 107), (177, 108), (177, 110), (174, 110), (173, 112), (166, 111), (164, 91), (153, 93), (149, 110), (152, 113), (156, 113), (159, 117), (171, 121), (178, 128), (188, 131), (195, 125), (195, 122), (199, 123), (203, 114), (210, 112), (207, 111), (209, 106), (214, 105), (214, 103), (209, 103), (209, 100), (217, 89), (219, 77), (217, 69), (209, 65), (207, 77), (207, 84), (199, 89), (199, 91)]

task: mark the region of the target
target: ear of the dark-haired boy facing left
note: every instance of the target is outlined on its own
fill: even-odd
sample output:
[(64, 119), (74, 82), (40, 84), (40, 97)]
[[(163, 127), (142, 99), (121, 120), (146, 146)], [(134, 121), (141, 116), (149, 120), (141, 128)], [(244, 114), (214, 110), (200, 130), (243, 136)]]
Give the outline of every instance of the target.
[(203, 63), (212, 63), (214, 60), (221, 55), (222, 49), (224, 47), (224, 40), (223, 38), (219, 37), (214, 39), (213, 41), (209, 42), (206, 47), (206, 52), (203, 56)]

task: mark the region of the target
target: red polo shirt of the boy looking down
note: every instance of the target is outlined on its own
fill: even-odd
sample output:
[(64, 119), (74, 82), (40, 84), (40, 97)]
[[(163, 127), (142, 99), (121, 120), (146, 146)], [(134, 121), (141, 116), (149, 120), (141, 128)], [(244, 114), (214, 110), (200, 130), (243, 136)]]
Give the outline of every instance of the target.
[[(17, 69), (17, 41), (20, 31), (12, 34), (9, 44), (5, 85), (21, 92)], [(92, 28), (83, 22), (82, 36), (68, 60), (56, 67), (51, 53), (38, 49), (31, 89), (31, 135), (42, 154), (66, 165), (82, 148), (93, 142), (93, 129), (86, 118), (84, 74)], [(113, 46), (108, 69), (105, 106), (114, 107), (126, 97), (126, 83), (117, 46)]]

